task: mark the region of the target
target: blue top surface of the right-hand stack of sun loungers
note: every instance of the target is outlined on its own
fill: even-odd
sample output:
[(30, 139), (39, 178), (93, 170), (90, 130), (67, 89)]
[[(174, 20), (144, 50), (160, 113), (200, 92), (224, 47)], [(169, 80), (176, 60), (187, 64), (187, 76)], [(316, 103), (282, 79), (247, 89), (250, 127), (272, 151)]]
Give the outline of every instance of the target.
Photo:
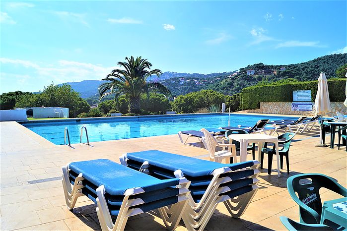
[(181, 170), (183, 174), (191, 177), (209, 175), (213, 172), (213, 170), (223, 167), (229, 167), (232, 171), (235, 171), (247, 167), (252, 167), (254, 165), (253, 161), (235, 164), (221, 164), (157, 150), (128, 153), (127, 157), (128, 159), (137, 161), (139, 163), (148, 161), (148, 163), (152, 166), (156, 166), (172, 172)]

